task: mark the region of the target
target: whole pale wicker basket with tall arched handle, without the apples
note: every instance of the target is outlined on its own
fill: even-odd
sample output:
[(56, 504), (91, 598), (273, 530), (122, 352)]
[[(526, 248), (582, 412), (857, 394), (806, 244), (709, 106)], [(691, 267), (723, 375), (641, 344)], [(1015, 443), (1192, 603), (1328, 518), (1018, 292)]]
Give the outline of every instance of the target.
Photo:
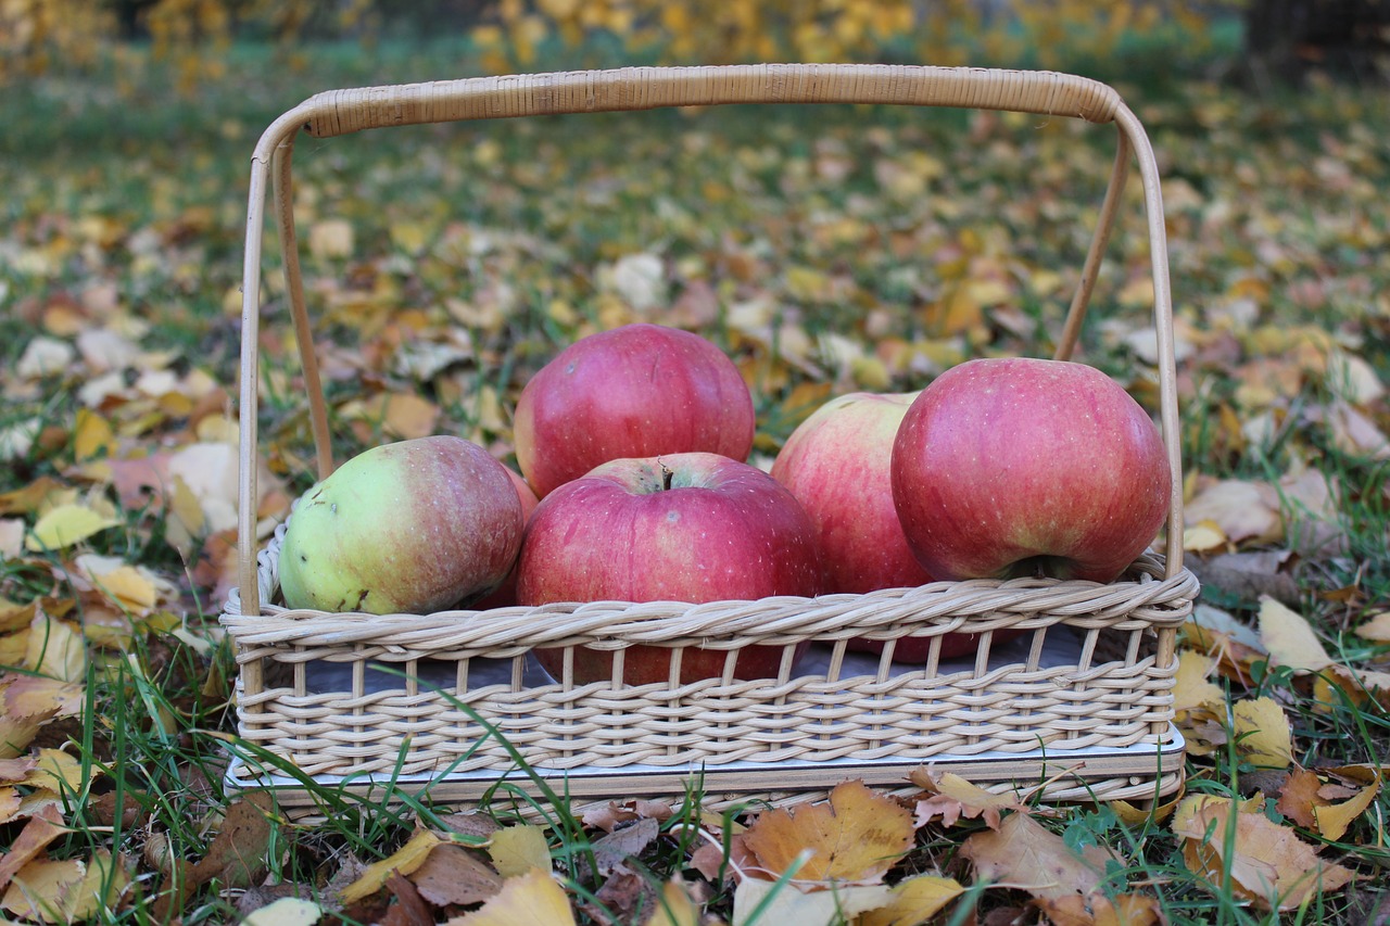
[[(1058, 356), (1080, 331), (1120, 190), (1143, 177), (1158, 332), (1161, 427), (1173, 474), (1166, 555), (1111, 584), (1058, 580), (934, 583), (866, 595), (685, 605), (588, 602), (434, 615), (291, 610), (278, 598), (284, 527), (257, 551), (257, 330), (261, 227), (274, 188), (286, 292), (300, 345), (321, 476), (332, 471), (324, 396), (291, 209), (300, 129), (331, 136), (449, 120), (723, 103), (895, 103), (1013, 110), (1115, 122), (1119, 150)], [(852, 777), (902, 784), (916, 766), (954, 769), (1047, 798), (1156, 797), (1182, 774), (1172, 727), (1176, 628), (1197, 581), (1182, 564), (1172, 303), (1156, 164), (1118, 93), (1052, 72), (906, 65), (748, 65), (532, 74), (321, 93), (281, 115), (252, 161), (243, 278), (239, 590), (222, 624), (235, 642), (243, 747), (231, 779), (303, 776), (370, 791), (389, 780), (446, 799), (502, 779), (555, 779), (571, 795), (680, 794), (699, 776), (724, 799), (798, 799)], [(1020, 631), (995, 642), (997, 631)], [(979, 634), (966, 659), (894, 662), (895, 641)], [(847, 651), (887, 641), (881, 656)], [(812, 644), (795, 672), (791, 653)], [(676, 651), (671, 681), (623, 681), (632, 644)], [(612, 681), (552, 681), (538, 647), (613, 649)], [(678, 684), (678, 653), (728, 652), (723, 677)], [(734, 680), (749, 645), (783, 647), (778, 677)], [(518, 758), (532, 769), (521, 774)], [(307, 801), (307, 797), (304, 798)]]

